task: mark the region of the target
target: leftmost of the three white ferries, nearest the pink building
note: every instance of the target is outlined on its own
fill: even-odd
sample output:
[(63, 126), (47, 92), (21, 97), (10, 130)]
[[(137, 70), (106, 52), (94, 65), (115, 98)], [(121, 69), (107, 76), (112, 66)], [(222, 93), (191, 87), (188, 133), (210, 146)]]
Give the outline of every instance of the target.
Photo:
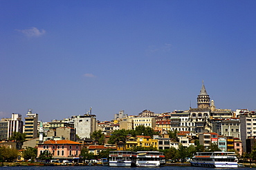
[(136, 152), (109, 151), (109, 167), (135, 167)]

